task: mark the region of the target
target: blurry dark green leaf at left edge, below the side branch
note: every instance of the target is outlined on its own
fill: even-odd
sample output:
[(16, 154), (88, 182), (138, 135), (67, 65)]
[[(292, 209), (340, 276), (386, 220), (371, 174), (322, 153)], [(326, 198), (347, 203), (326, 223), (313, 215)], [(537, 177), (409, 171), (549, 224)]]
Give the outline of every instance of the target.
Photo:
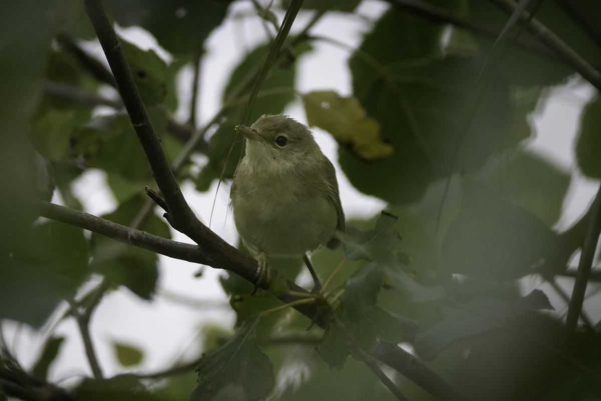
[(75, 295), (89, 274), (81, 228), (49, 221), (0, 263), (0, 315), (40, 327), (59, 302)]

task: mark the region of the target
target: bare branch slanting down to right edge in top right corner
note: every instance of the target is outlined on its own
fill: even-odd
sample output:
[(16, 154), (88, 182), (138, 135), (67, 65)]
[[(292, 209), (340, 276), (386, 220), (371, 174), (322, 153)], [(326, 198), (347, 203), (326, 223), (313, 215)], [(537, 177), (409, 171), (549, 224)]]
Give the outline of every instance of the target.
[[(513, 0), (489, 1), (510, 15), (516, 9), (516, 3)], [(598, 91), (601, 91), (601, 72), (599, 72), (599, 70), (591, 66), (591, 64), (582, 58), (581, 55), (576, 53), (572, 47), (568, 46), (566, 42), (561, 40), (561, 38), (555, 35), (539, 20), (531, 17), (526, 11), (522, 13), (519, 21), (532, 35), (534, 35), (534, 37), (549, 47), (551, 51), (555, 52), (564, 63), (572, 67), (572, 69), (579, 73), (582, 78), (586, 79), (591, 85), (597, 88)]]

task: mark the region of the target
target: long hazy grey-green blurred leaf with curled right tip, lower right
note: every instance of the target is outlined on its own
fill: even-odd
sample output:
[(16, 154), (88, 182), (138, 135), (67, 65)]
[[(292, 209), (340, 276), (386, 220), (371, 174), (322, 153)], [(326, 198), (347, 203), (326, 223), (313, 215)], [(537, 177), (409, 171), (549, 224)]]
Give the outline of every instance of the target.
[(532, 310), (553, 309), (540, 290), (507, 302), (492, 298), (474, 298), (463, 308), (445, 308), (444, 319), (415, 338), (415, 350), (431, 361), (454, 341), (499, 329), (508, 321)]

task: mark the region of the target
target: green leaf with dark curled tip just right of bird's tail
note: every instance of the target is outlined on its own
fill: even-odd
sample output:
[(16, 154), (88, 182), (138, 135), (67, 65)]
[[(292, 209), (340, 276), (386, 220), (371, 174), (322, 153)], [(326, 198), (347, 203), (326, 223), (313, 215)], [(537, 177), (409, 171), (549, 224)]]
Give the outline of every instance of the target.
[(387, 260), (394, 257), (394, 247), (401, 237), (392, 225), (397, 216), (382, 212), (376, 227), (369, 231), (359, 231), (349, 227), (346, 233), (339, 233), (344, 253), (349, 259)]

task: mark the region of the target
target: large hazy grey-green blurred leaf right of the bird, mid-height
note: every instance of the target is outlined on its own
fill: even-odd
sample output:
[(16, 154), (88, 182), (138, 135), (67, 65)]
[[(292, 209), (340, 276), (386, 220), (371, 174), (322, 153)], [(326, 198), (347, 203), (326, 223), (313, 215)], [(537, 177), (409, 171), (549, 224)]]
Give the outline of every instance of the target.
[(492, 281), (523, 277), (554, 260), (557, 234), (521, 207), (464, 180), (459, 214), (442, 243), (441, 268)]

